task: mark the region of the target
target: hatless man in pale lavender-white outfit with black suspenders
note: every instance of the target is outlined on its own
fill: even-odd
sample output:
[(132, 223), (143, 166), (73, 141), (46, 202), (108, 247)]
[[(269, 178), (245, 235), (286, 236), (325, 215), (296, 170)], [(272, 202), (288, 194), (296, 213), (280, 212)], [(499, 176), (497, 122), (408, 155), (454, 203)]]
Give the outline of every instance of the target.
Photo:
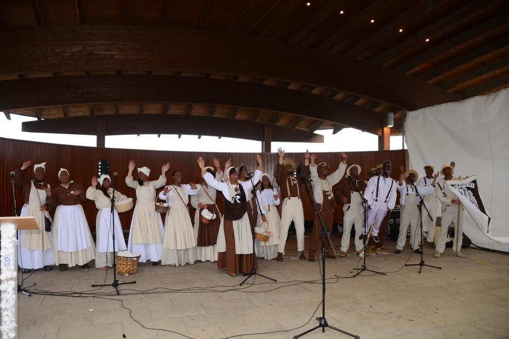
[(396, 183), (394, 179), (389, 177), (390, 170), (390, 161), (384, 161), (382, 164), (382, 175), (372, 177), (367, 183), (364, 198), (367, 200), (370, 210), (367, 212), (367, 225), (362, 227), (362, 234), (359, 236), (360, 240), (364, 239), (373, 224), (372, 238), (375, 242), (380, 241), (378, 231), (382, 220), (385, 214), (394, 208), (396, 203)]

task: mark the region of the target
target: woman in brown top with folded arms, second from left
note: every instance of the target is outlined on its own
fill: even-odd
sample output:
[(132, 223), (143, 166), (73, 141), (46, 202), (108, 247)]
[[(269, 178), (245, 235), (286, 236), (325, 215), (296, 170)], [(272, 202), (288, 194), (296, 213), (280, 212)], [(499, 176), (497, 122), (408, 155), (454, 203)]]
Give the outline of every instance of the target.
[(61, 184), (53, 187), (47, 198), (49, 209), (56, 208), (53, 223), (55, 262), (61, 271), (67, 270), (66, 265), (89, 269), (88, 263), (95, 259), (96, 247), (81, 206), (87, 196), (81, 184), (70, 180), (65, 168), (60, 169), (59, 179)]

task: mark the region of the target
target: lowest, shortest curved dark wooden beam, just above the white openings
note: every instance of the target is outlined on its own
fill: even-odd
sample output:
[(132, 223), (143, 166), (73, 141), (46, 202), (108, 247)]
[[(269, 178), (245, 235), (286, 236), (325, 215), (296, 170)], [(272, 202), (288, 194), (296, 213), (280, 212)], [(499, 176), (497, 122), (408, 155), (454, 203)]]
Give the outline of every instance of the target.
[[(101, 115), (80, 116), (74, 118), (45, 119), (22, 123), (23, 132), (37, 133), (72, 133), (80, 135), (97, 135), (98, 120), (105, 123), (105, 135), (134, 134), (179, 134), (207, 135), (264, 141), (267, 125), (238, 119), (224, 119), (193, 115), (143, 115), (143, 124), (139, 121), (142, 115)], [(323, 142), (323, 136), (296, 130), (284, 126), (272, 126), (271, 140), (275, 142)]]

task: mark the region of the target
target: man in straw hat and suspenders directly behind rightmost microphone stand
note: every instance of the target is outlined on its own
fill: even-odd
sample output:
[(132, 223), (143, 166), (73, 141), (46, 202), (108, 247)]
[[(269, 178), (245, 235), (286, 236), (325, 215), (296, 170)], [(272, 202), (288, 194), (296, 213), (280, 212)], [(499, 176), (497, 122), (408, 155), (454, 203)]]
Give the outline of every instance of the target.
[[(401, 175), (398, 181), (398, 191), (400, 192), (400, 205), (401, 205), (401, 217), (400, 217), (400, 234), (398, 236), (398, 242), (396, 244), (395, 254), (400, 254), (407, 241), (408, 227), (410, 226), (410, 242), (412, 243), (412, 250), (415, 253), (421, 253), (419, 245), (420, 243), (420, 220), (419, 220), (419, 196), (424, 197), (425, 195), (435, 192), (435, 183), (438, 178), (438, 173), (433, 178), (431, 185), (418, 186), (415, 185), (419, 175), (414, 170), (408, 170), (405, 172), (405, 166), (400, 166)], [(427, 206), (428, 207), (428, 206)], [(429, 207), (428, 207), (429, 208)], [(424, 214), (428, 214), (426, 208), (421, 209), (422, 218)]]

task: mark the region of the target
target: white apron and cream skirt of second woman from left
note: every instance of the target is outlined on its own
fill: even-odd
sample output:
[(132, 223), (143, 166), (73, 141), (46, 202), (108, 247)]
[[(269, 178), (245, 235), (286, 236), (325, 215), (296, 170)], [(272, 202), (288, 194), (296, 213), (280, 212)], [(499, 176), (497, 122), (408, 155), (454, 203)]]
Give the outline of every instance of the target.
[(94, 239), (81, 205), (56, 207), (53, 243), (57, 265), (68, 264), (72, 267), (95, 259)]

